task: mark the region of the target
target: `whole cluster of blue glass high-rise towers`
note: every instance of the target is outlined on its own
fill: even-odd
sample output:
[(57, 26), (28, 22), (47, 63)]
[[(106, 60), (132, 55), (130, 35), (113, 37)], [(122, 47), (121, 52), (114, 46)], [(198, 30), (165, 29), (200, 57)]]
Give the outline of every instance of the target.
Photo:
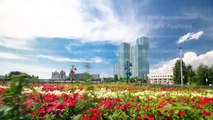
[(136, 44), (131, 47), (128, 43), (119, 45), (118, 63), (114, 66), (114, 74), (119, 77), (126, 77), (124, 64), (127, 61), (132, 63), (131, 77), (147, 77), (149, 73), (149, 39), (147, 37), (136, 39)]

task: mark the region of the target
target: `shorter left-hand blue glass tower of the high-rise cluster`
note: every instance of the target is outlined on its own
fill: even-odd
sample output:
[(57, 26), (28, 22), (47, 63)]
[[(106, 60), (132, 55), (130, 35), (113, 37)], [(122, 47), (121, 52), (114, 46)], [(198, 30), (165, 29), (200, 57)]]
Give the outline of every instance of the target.
[(130, 61), (130, 44), (121, 43), (118, 47), (118, 76), (125, 77), (124, 64)]

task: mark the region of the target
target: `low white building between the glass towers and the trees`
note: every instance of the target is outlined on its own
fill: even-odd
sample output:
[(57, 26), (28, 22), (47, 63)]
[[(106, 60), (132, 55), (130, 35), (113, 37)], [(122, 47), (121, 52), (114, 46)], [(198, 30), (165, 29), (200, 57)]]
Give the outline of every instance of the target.
[(174, 84), (172, 74), (149, 74), (150, 84), (172, 85)]

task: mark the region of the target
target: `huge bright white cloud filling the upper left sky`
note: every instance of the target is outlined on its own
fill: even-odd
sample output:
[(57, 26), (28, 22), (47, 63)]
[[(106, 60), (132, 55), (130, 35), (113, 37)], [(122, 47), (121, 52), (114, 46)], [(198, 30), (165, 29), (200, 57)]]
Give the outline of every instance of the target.
[[(1, 0), (0, 40), (5, 44), (0, 46), (29, 49), (36, 37), (132, 41), (147, 33), (147, 28), (141, 31), (143, 25), (134, 19), (135, 14), (116, 15), (111, 4), (105, 0)], [(12, 39), (7, 42), (5, 37)]]

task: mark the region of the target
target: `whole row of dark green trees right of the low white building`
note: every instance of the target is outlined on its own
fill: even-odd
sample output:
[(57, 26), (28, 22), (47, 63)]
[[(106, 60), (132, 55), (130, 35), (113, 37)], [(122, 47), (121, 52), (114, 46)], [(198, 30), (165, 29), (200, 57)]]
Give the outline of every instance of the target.
[[(213, 65), (211, 67), (208, 67), (201, 64), (196, 69), (193, 69), (192, 65), (186, 65), (185, 62), (182, 61), (182, 71), (184, 84), (213, 84)], [(173, 68), (173, 80), (175, 84), (181, 83), (180, 60), (176, 61)]]

